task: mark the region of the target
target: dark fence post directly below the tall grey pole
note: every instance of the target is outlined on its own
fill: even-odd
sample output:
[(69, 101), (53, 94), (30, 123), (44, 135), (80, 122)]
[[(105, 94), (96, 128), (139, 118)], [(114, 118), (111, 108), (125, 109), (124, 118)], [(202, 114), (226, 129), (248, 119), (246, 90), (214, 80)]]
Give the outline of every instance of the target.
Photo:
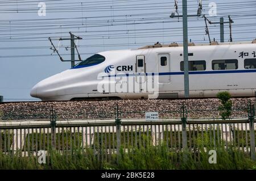
[(187, 142), (187, 110), (182, 103), (181, 107), (181, 125), (182, 125), (182, 149), (183, 149), (183, 161), (187, 161), (187, 151), (188, 151), (188, 142)]

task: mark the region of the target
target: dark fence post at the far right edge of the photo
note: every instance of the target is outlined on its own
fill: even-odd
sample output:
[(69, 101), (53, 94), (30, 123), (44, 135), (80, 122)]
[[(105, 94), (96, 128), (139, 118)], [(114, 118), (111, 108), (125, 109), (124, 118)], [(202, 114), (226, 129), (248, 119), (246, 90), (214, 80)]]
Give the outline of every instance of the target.
[(248, 108), (248, 118), (249, 118), (249, 127), (250, 127), (250, 152), (251, 152), (251, 159), (255, 161), (255, 132), (254, 132), (254, 104), (251, 104), (251, 100), (249, 102)]

